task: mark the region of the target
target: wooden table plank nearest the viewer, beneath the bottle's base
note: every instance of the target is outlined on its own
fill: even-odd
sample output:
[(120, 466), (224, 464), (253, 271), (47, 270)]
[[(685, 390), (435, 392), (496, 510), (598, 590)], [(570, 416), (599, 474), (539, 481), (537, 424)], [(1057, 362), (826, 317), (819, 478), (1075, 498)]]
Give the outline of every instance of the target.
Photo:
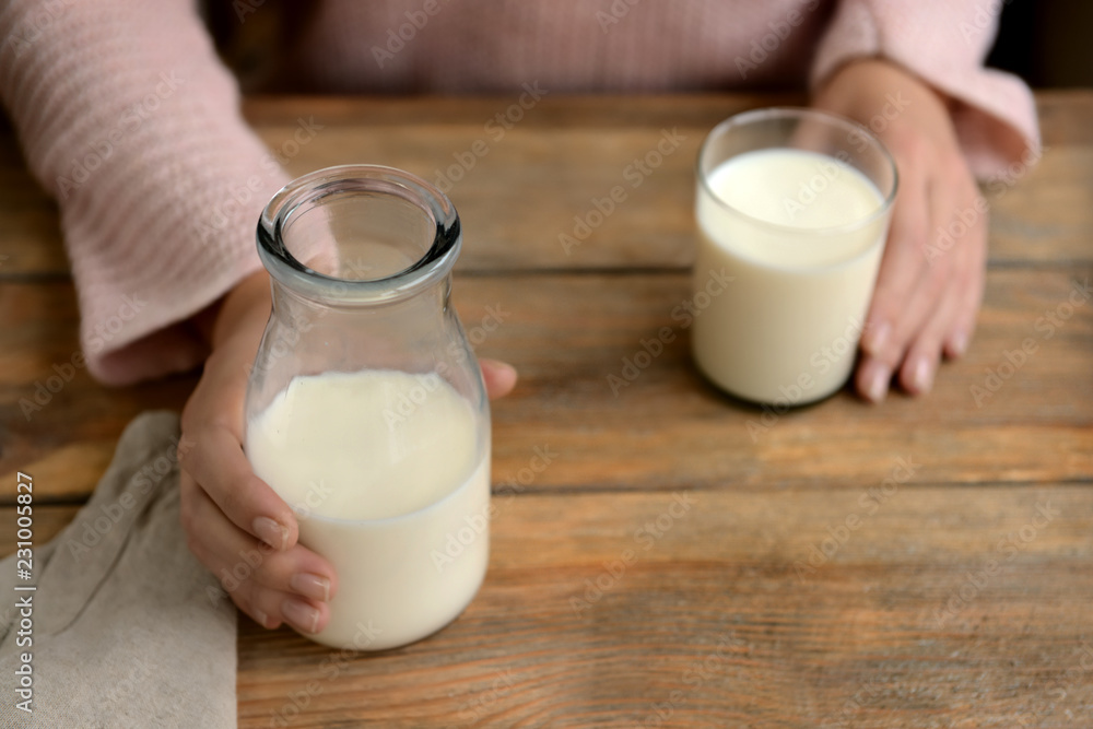
[[(244, 620), (239, 726), (1046, 728), (1089, 715), (1093, 491), (954, 501), (905, 485), (872, 515), (858, 491), (685, 495), (677, 516), (671, 493), (497, 497), (482, 591), (406, 648), (342, 654)], [(1051, 515), (1038, 528), (1037, 506)], [(857, 529), (826, 544), (851, 514)], [(831, 556), (799, 578), (813, 548)]]

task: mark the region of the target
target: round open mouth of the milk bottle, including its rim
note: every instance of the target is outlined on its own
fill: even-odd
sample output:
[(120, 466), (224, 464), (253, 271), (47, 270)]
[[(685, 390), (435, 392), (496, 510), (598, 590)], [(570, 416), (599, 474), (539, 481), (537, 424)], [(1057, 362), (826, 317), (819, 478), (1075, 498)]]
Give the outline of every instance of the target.
[(380, 165), (342, 165), (281, 188), (258, 221), (270, 275), (328, 305), (407, 298), (450, 272), (462, 236), (438, 189)]

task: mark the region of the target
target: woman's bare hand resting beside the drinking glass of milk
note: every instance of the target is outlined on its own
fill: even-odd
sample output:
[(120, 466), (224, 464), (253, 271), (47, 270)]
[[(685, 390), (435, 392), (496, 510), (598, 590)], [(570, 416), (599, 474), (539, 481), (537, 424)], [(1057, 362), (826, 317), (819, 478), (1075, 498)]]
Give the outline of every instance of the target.
[(907, 392), (928, 392), (942, 355), (967, 349), (987, 259), (986, 205), (947, 99), (897, 66), (867, 59), (839, 69), (813, 105), (870, 128), (900, 171), (861, 338), (858, 392), (883, 400), (893, 375)]

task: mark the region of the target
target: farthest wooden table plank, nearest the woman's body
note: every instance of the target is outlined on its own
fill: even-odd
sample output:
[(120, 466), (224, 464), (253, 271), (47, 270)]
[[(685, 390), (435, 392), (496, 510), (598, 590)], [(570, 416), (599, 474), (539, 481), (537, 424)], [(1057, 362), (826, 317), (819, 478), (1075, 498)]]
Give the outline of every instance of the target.
[[(991, 261), (1018, 264), (1091, 261), (1093, 210), (1084, 204), (1093, 186), (1093, 94), (1039, 94), (1048, 151), (1014, 185), (995, 185)], [(529, 268), (668, 267), (692, 260), (693, 164), (702, 137), (719, 120), (755, 106), (800, 98), (724, 95), (679, 97), (553, 97), (527, 111), (509, 130), (485, 125), (512, 103), (509, 96), (444, 99), (255, 98), (249, 119), (273, 149), (296, 132), (299, 118), (324, 126), (290, 156), (302, 174), (346, 162), (409, 169), (430, 180), (457, 165), (461, 179), (451, 197), (463, 217), (463, 270)], [(655, 149), (663, 129), (685, 139), (647, 176), (627, 166)], [(504, 132), (503, 136), (498, 134)], [(475, 142), (487, 152), (470, 154)], [(292, 151), (292, 148), (289, 148)], [(456, 156), (473, 160), (463, 172)], [(470, 163), (467, 163), (470, 164)], [(640, 181), (638, 187), (633, 185)], [(572, 234), (574, 216), (593, 211), (622, 185), (625, 202), (567, 254), (559, 243)], [(66, 275), (56, 205), (24, 169), (11, 133), (0, 134), (0, 217), (5, 235), (0, 280)]]

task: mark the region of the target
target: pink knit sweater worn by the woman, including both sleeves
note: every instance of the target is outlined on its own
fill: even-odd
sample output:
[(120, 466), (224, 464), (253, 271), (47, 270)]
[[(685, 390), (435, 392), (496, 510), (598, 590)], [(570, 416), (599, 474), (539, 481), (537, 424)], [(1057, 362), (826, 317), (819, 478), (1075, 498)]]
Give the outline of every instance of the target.
[[(962, 102), (964, 152), (989, 176), (1038, 145), (1029, 89), (982, 68), (999, 4), (327, 0), (286, 52), (312, 89), (336, 93), (814, 87), (882, 56)], [(244, 23), (263, 12), (233, 7)], [(255, 225), (286, 181), (195, 3), (8, 0), (0, 36), (0, 94), (60, 203), (92, 374), (126, 384), (193, 367), (205, 352), (177, 325), (260, 267)]]

